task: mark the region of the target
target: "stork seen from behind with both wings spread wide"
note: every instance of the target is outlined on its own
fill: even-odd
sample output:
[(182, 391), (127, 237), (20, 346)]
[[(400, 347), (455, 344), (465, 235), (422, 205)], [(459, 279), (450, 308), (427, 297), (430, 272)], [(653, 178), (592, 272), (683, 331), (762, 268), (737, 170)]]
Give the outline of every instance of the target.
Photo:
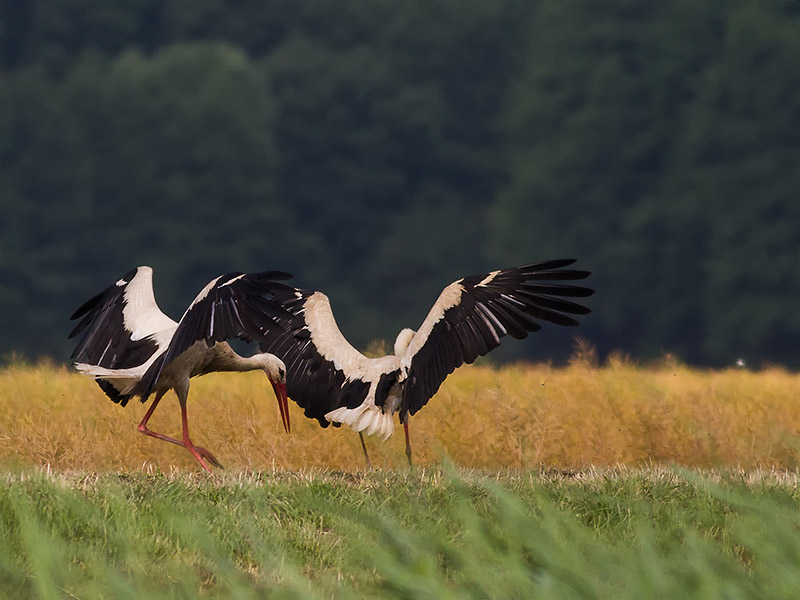
[(399, 412), (411, 464), (408, 417), (457, 367), (497, 347), (506, 334), (522, 339), (538, 331), (537, 320), (572, 326), (578, 322), (569, 314), (590, 312), (564, 298), (591, 296), (594, 290), (553, 283), (589, 276), (563, 268), (574, 262), (553, 260), (459, 279), (444, 288), (419, 330), (403, 329), (394, 354), (380, 358), (367, 358), (348, 343), (322, 292), (279, 291), (275, 300), (292, 316), (279, 317), (284, 333), (270, 334), (260, 347), (286, 363), (289, 396), (307, 417), (322, 427), (344, 423), (359, 433), (368, 467), (362, 434), (389, 438), (392, 415)]

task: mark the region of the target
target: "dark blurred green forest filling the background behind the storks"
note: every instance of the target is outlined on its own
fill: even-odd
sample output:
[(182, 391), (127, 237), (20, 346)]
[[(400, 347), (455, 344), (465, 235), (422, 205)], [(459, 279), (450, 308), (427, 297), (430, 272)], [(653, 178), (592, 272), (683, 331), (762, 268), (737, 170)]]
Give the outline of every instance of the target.
[(282, 269), (355, 345), (576, 257), (581, 327), (495, 360), (800, 365), (800, 3), (0, 0), (0, 355), (155, 269)]

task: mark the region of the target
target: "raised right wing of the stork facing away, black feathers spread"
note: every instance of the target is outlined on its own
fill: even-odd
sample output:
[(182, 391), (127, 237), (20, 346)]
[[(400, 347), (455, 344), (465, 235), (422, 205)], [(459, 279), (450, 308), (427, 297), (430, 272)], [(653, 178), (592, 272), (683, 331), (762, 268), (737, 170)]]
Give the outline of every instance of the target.
[(590, 312), (565, 298), (585, 298), (594, 290), (563, 283), (589, 276), (564, 269), (574, 259), (552, 260), (460, 279), (447, 286), (401, 358), (407, 373), (400, 419), (412, 415), (436, 393), (445, 378), (500, 345), (508, 334), (522, 339), (538, 331), (537, 321), (573, 326), (569, 315)]

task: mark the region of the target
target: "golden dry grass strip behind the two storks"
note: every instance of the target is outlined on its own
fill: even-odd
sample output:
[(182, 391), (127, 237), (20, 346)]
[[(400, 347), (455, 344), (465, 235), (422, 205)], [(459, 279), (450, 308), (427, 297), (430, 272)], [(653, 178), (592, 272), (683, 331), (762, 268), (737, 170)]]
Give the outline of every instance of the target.
[[(800, 464), (800, 375), (782, 369), (698, 370), (664, 362), (641, 367), (462, 367), (411, 419), (415, 462), (449, 458), (484, 468), (679, 464), (796, 468)], [(0, 370), (0, 467), (81, 471), (196, 470), (189, 453), (136, 431), (145, 406), (110, 402), (67, 368)], [(321, 429), (290, 402), (292, 433), (260, 373), (192, 380), (192, 438), (233, 470), (364, 468), (358, 436)], [(180, 434), (169, 394), (150, 421)], [(373, 465), (405, 464), (402, 429), (367, 439)]]

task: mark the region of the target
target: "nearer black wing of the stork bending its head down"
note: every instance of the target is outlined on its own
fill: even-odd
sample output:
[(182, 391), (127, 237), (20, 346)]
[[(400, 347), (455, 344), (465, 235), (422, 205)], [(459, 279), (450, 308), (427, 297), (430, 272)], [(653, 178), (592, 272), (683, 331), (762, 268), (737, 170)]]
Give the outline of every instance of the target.
[(196, 342), (208, 347), (239, 338), (246, 342), (263, 340), (280, 331), (276, 318), (287, 312), (272, 300), (278, 291), (291, 290), (281, 280), (292, 276), (281, 271), (228, 273), (206, 285), (181, 317), (164, 352), (142, 376), (134, 395), (144, 401), (152, 392), (161, 371)]

